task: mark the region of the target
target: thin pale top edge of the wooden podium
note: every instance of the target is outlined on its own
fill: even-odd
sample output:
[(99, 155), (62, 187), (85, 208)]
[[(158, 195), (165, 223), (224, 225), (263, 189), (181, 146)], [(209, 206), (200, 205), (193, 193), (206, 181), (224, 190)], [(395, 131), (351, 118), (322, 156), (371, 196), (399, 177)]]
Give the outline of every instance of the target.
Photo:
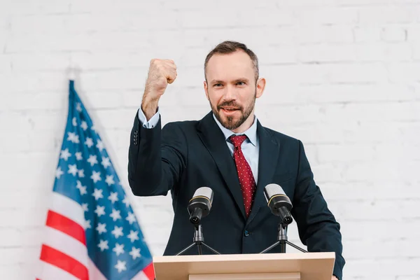
[(314, 253), (265, 253), (265, 254), (225, 254), (225, 255), (163, 255), (153, 257), (154, 263), (167, 262), (226, 262), (249, 260), (335, 260), (334, 252)]

